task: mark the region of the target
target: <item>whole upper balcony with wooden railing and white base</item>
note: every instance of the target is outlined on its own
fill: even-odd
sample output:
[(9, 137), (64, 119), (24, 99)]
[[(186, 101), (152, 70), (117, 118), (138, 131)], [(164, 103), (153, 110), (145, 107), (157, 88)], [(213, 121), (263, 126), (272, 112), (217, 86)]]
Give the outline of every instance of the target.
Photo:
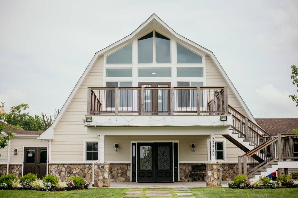
[(230, 126), (227, 101), (227, 87), (88, 88), (85, 126)]

